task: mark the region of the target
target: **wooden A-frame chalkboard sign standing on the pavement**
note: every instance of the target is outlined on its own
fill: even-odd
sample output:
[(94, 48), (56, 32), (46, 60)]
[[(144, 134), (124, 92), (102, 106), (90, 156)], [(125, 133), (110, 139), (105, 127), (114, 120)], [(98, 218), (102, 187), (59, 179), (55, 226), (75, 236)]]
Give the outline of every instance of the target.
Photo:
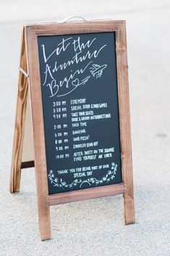
[(16, 113), (10, 191), (35, 166), (42, 240), (67, 202), (123, 194), (134, 223), (124, 21), (25, 25)]

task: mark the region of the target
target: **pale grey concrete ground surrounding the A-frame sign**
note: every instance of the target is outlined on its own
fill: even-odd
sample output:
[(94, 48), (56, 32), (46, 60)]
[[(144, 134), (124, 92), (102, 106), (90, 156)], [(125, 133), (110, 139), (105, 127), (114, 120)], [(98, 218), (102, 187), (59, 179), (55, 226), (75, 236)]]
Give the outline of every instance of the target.
[[(169, 256), (169, 1), (1, 0), (0, 10), (0, 256)], [(136, 223), (123, 225), (122, 196), (59, 205), (41, 241), (33, 168), (9, 194), (20, 33), (75, 14), (127, 20)]]

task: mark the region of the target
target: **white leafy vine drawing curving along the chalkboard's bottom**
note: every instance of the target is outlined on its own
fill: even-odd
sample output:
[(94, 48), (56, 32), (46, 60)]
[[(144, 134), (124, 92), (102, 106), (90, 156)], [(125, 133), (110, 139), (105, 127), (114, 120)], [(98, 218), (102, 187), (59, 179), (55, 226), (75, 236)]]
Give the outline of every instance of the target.
[(75, 181), (72, 181), (72, 183), (67, 183), (62, 178), (56, 178), (54, 175), (54, 170), (50, 170), (48, 173), (48, 179), (51, 182), (51, 184), (54, 184), (54, 186), (57, 186), (59, 188), (73, 188), (75, 186), (79, 186), (81, 188), (83, 183), (88, 183), (90, 186), (92, 184), (95, 184), (96, 186), (101, 183), (108, 183), (109, 181), (113, 180), (116, 176), (116, 170), (117, 166), (114, 162), (111, 163), (111, 170), (108, 170), (106, 173), (106, 176), (103, 176), (101, 180), (98, 180), (97, 178), (88, 178), (85, 181), (80, 179), (75, 179)]

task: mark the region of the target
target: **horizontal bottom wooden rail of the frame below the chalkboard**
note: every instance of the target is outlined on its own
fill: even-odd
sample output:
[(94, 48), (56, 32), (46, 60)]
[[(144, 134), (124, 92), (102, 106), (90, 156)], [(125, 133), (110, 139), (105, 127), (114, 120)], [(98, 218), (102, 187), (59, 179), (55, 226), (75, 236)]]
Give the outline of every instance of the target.
[(115, 194), (124, 194), (126, 188), (123, 183), (109, 186), (99, 186), (91, 189), (81, 189), (69, 191), (59, 194), (51, 194), (48, 196), (49, 205), (60, 205), (67, 202), (76, 202), (86, 199), (94, 199), (98, 197), (112, 196)]

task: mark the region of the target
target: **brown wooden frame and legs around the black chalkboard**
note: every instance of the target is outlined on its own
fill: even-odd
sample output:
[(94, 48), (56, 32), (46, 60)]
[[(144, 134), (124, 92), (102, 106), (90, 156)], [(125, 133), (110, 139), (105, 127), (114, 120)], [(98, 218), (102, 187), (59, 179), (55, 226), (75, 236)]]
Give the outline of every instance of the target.
[[(43, 128), (43, 108), (41, 100), (41, 80), (38, 60), (37, 37), (101, 32), (116, 33), (116, 67), (118, 80), (119, 125), (122, 150), (123, 182), (116, 185), (100, 186), (91, 189), (48, 195), (46, 148)], [(33, 167), (35, 164), (41, 239), (44, 240), (51, 238), (49, 212), (49, 207), (51, 205), (59, 205), (83, 199), (123, 194), (125, 224), (134, 223), (135, 214), (132, 183), (132, 149), (130, 135), (129, 86), (127, 73), (127, 42), (125, 22), (106, 20), (26, 25), (22, 33), (21, 67), (26, 70), (26, 72), (28, 70), (29, 79), (26, 79), (24, 75), (20, 73), (10, 191), (15, 192), (20, 190), (21, 168)], [(25, 163), (22, 162), (21, 156), (26, 112), (25, 106), (27, 102), (27, 84), (30, 88), (35, 162), (34, 160), (31, 160)]]

